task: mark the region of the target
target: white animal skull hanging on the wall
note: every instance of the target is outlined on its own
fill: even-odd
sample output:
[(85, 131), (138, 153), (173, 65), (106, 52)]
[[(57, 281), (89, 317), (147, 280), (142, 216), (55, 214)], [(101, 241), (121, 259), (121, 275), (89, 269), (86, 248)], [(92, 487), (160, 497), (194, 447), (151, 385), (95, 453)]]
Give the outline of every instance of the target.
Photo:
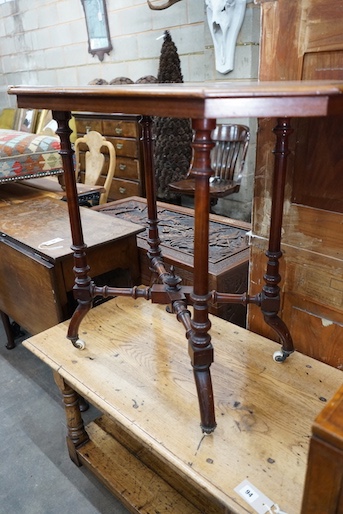
[(205, 0), (209, 29), (214, 43), (216, 70), (233, 70), (237, 36), (243, 23), (247, 0)]

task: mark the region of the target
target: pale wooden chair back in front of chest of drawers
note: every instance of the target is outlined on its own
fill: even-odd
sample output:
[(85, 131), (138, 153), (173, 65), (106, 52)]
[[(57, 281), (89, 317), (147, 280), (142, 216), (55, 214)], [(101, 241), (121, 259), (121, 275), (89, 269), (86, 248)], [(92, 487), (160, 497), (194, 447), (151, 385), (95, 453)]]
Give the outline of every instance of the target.
[(99, 184), (102, 169), (105, 163), (105, 155), (101, 151), (106, 147), (109, 153), (108, 172), (106, 175), (104, 189), (100, 194), (99, 204), (107, 202), (108, 193), (111, 187), (112, 178), (116, 166), (116, 153), (112, 143), (107, 141), (99, 132), (94, 130), (75, 141), (76, 179), (80, 172), (80, 150), (86, 145), (88, 150), (85, 153), (85, 176), (84, 183), (89, 186)]

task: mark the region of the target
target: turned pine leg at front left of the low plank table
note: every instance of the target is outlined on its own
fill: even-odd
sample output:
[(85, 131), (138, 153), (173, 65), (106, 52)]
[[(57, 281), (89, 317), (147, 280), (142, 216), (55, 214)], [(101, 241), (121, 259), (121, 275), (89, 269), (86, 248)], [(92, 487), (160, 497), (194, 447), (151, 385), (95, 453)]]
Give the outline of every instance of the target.
[(89, 437), (85, 430), (79, 408), (79, 395), (56, 371), (54, 372), (54, 379), (57, 387), (63, 395), (68, 429), (68, 452), (74, 464), (81, 466), (82, 464), (77, 455), (77, 448), (87, 443), (89, 441)]

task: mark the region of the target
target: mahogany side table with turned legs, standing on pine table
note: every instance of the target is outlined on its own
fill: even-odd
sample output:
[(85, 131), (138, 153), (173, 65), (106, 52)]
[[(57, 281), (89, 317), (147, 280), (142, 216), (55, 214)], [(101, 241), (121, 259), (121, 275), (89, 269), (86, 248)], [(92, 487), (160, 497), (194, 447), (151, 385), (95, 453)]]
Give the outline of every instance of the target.
[[(258, 305), (265, 321), (277, 332), (282, 343), (276, 360), (285, 360), (294, 351), (291, 335), (278, 316), (280, 307), (279, 259), (284, 185), (292, 132), (291, 117), (330, 116), (343, 114), (343, 82), (218, 82), (203, 84), (137, 84), (87, 87), (10, 87), (17, 96), (18, 107), (51, 109), (58, 123), (61, 155), (65, 170), (73, 249), (75, 261), (74, 293), (78, 300), (68, 329), (68, 338), (75, 346), (83, 347), (79, 340), (79, 326), (92, 306), (93, 297), (132, 296), (169, 304), (183, 324), (198, 392), (201, 428), (211, 433), (216, 427), (210, 366), (213, 362), (208, 317), (211, 301)], [(149, 257), (151, 266), (163, 284), (145, 289), (116, 289), (97, 287), (88, 276), (86, 246), (84, 243), (80, 211), (77, 204), (73, 151), (70, 145), (70, 112), (89, 111), (140, 114), (142, 144), (146, 166), (146, 195), (149, 218)], [(155, 201), (152, 163), (151, 116), (186, 117), (192, 119), (194, 130), (192, 174), (195, 178), (194, 227), (194, 287), (183, 286), (172, 270), (167, 270), (159, 248), (158, 218)], [(270, 220), (270, 238), (267, 250), (265, 285), (259, 294), (249, 297), (208, 288), (209, 238), (209, 178), (212, 174), (210, 151), (213, 147), (211, 131), (217, 118), (272, 117), (277, 118), (274, 129), (274, 184)], [(193, 314), (189, 310), (192, 307)], [(142, 327), (144, 330), (144, 327)], [(228, 348), (229, 351), (229, 348)]]

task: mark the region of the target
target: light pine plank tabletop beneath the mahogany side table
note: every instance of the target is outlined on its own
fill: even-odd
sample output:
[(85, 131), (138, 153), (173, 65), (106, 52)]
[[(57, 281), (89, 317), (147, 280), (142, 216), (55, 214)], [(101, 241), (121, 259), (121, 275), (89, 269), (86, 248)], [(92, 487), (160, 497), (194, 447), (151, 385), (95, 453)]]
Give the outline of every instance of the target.
[(23, 344), (225, 512), (255, 512), (234, 491), (247, 479), (297, 514), (311, 426), (342, 374), (299, 353), (276, 363), (276, 343), (211, 321), (218, 426), (207, 436), (184, 330), (165, 307), (115, 298), (92, 309), (80, 328), (83, 351), (66, 339), (68, 322)]

